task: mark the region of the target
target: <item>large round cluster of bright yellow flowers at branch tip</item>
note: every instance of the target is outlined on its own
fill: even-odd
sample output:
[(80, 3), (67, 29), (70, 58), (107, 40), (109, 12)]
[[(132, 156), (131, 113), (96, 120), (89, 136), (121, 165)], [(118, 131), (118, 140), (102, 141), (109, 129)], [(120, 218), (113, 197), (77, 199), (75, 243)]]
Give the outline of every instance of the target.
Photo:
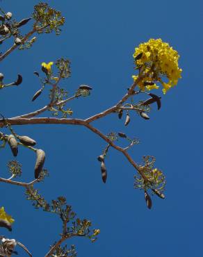
[[(177, 85), (177, 81), (181, 78), (182, 70), (179, 68), (179, 55), (177, 51), (172, 49), (168, 43), (161, 38), (140, 44), (133, 53), (135, 63), (138, 68), (142, 68), (147, 74), (146, 78), (138, 83), (138, 86), (145, 90), (159, 88), (154, 82), (160, 82), (163, 85), (163, 94), (165, 94), (172, 86)], [(162, 81), (162, 77), (166, 76), (168, 82)], [(133, 75), (135, 81), (138, 76)], [(150, 82), (147, 85), (147, 82)], [(154, 83), (154, 84), (153, 84)]]

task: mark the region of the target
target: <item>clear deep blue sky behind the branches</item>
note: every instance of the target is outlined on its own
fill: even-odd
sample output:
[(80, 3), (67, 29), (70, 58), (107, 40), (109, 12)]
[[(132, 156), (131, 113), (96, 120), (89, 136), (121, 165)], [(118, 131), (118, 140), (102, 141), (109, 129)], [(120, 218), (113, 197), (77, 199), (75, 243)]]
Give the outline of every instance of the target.
[[(0, 72), (8, 81), (18, 73), (24, 78), (18, 88), (1, 90), (0, 113), (6, 117), (47, 103), (45, 94), (31, 102), (40, 88), (33, 72), (40, 71), (42, 62), (60, 57), (72, 62), (72, 76), (64, 84), (70, 95), (83, 83), (93, 88), (89, 98), (70, 103), (73, 117), (79, 118), (98, 113), (122, 97), (132, 82), (132, 54), (140, 42), (149, 38), (169, 42), (179, 52), (183, 69), (177, 87), (162, 96), (161, 110), (153, 106), (151, 119), (134, 115), (127, 128), (117, 115), (94, 123), (104, 133), (123, 131), (140, 138), (140, 144), (130, 150), (138, 163), (143, 155), (156, 156), (167, 187), (164, 200), (153, 197), (152, 210), (147, 209), (143, 192), (133, 189), (135, 170), (113, 149), (106, 160), (108, 181), (101, 182), (97, 156), (106, 144), (86, 128), (15, 127), (17, 133), (37, 140), (47, 153), (45, 167), (50, 176), (38, 185), (44, 197), (51, 200), (64, 195), (79, 217), (91, 219), (101, 230), (94, 244), (85, 238), (67, 244), (76, 244), (79, 257), (202, 257), (202, 1), (47, 2), (62, 11), (63, 32), (41, 35), (32, 49), (15, 51), (0, 63)], [(19, 20), (30, 17), (36, 3), (6, 0), (1, 7)], [(30, 26), (31, 22), (24, 30)], [(1, 45), (3, 50), (7, 47)], [(3, 177), (8, 177), (5, 160), (10, 159), (10, 149), (1, 150)], [(17, 160), (23, 165), (22, 181), (33, 179), (33, 154), (20, 149)], [(0, 205), (15, 218), (13, 232), (1, 229), (1, 235), (23, 242), (33, 256), (44, 256), (59, 238), (58, 217), (35, 210), (22, 188), (1, 183), (0, 192)], [(19, 256), (26, 256), (18, 250)]]

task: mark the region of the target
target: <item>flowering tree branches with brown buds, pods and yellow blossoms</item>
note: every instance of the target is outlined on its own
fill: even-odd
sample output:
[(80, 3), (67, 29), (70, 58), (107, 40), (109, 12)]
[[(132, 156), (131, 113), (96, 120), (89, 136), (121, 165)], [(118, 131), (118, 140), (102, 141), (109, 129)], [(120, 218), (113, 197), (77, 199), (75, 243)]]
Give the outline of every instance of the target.
[[(6, 40), (13, 39), (13, 45), (1, 53), (0, 61), (3, 60), (13, 51), (30, 49), (34, 47), (34, 42), (40, 34), (55, 32), (60, 34), (61, 26), (65, 23), (65, 18), (60, 11), (54, 10), (47, 3), (38, 3), (34, 6), (33, 14), (29, 18), (24, 18), (21, 21), (16, 21), (14, 15), (10, 12), (0, 10), (0, 44), (3, 47), (6, 45)], [(33, 24), (31, 31), (22, 34), (22, 27), (26, 24)], [(6, 46), (5, 46), (6, 47)], [(149, 119), (149, 112), (152, 104), (156, 104), (157, 109), (161, 108), (161, 97), (155, 94), (154, 91), (165, 94), (170, 88), (177, 85), (181, 78), (181, 69), (178, 65), (179, 55), (177, 51), (172, 49), (170, 45), (163, 42), (161, 39), (150, 39), (136, 47), (134, 53), (134, 72), (133, 82), (129, 88), (124, 89), (122, 99), (101, 113), (97, 113), (87, 119), (77, 119), (71, 117), (72, 110), (68, 104), (73, 99), (90, 96), (92, 88), (89, 85), (79, 85), (72, 96), (68, 96), (66, 89), (60, 87), (60, 82), (70, 76), (70, 60), (59, 58), (58, 60), (50, 60), (48, 63), (41, 63), (40, 72), (33, 72), (33, 76), (39, 78), (39, 90), (33, 95), (32, 101), (43, 97), (43, 90), (49, 86), (49, 102), (38, 110), (33, 110), (32, 113), (22, 113), (17, 117), (5, 117), (1, 110), (0, 126), (8, 131), (8, 133), (0, 132), (1, 151), (6, 147), (10, 148), (10, 154), (15, 156), (14, 160), (10, 160), (7, 164), (10, 177), (8, 179), (0, 178), (1, 183), (10, 183), (24, 187), (26, 199), (32, 202), (35, 208), (42, 208), (47, 213), (55, 213), (61, 219), (62, 228), (60, 238), (47, 247), (47, 254), (44, 256), (76, 256), (74, 246), (67, 248), (63, 242), (72, 237), (86, 237), (94, 242), (99, 234), (99, 229), (92, 229), (92, 224), (88, 219), (76, 217), (76, 213), (72, 210), (72, 206), (67, 204), (65, 197), (58, 197), (50, 203), (44, 199), (42, 194), (36, 188), (37, 183), (42, 182), (48, 172), (44, 169), (45, 153), (43, 149), (38, 149), (37, 142), (30, 138), (29, 135), (21, 135), (15, 131), (15, 125), (27, 124), (69, 124), (80, 125), (88, 128), (92, 133), (97, 134), (101, 140), (106, 143), (104, 151), (101, 151), (98, 159), (101, 166), (101, 179), (106, 183), (107, 168), (105, 163), (106, 154), (110, 148), (120, 151), (123, 158), (127, 158), (132, 166), (132, 170), (136, 171), (134, 176), (134, 187), (143, 190), (147, 207), (152, 208), (152, 199), (150, 194), (156, 194), (162, 199), (165, 198), (163, 192), (165, 190), (165, 176), (163, 172), (156, 167), (154, 156), (143, 156), (143, 163), (138, 164), (136, 160), (129, 155), (129, 148), (134, 144), (138, 144), (136, 138), (129, 138), (124, 132), (109, 132), (105, 135), (99, 128), (92, 126), (92, 122), (97, 119), (102, 119), (106, 115), (114, 114), (118, 119), (124, 120), (124, 126), (129, 126), (131, 113), (137, 113), (138, 119)], [(50, 56), (51, 59), (51, 56)], [(36, 67), (36, 70), (39, 70)], [(1, 72), (1, 71), (0, 71)], [(23, 71), (22, 71), (23, 74)], [(23, 83), (22, 74), (17, 74), (16, 81), (10, 81), (9, 78), (4, 78), (3, 73), (0, 74), (0, 89), (6, 90), (10, 86), (19, 86)], [(159, 88), (162, 88), (159, 90)], [(153, 90), (153, 91), (152, 91)], [(153, 92), (153, 93), (152, 93)], [(141, 101), (136, 100), (138, 94), (143, 96)], [(49, 117), (38, 117), (45, 111), (49, 111)], [(116, 128), (115, 128), (116, 129)], [(126, 140), (126, 147), (118, 145), (120, 140)], [(22, 165), (17, 161), (18, 152), (21, 147), (26, 147), (27, 151), (33, 151), (35, 154), (35, 167), (33, 169), (33, 180), (30, 182), (17, 181), (17, 177), (22, 176)], [(49, 167), (51, 169), (51, 167)], [(98, 167), (99, 169), (99, 167)], [(144, 198), (143, 197), (143, 198)], [(0, 226), (12, 231), (13, 217), (6, 213), (6, 206), (0, 208)], [(46, 215), (44, 213), (44, 215)], [(0, 256), (11, 256), (17, 254), (17, 247), (23, 247), (29, 256), (29, 246), (24, 246), (16, 239), (9, 239), (1, 235)]]

